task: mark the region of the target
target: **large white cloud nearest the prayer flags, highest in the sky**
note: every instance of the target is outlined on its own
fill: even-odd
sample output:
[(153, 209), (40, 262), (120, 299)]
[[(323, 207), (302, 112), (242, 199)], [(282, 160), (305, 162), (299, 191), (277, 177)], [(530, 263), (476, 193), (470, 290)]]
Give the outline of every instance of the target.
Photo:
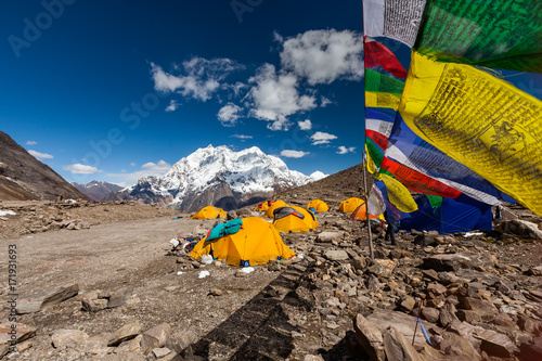
[[(282, 38), (275, 36), (275, 40)], [(283, 69), (307, 78), (310, 85), (331, 83), (338, 78), (363, 77), (363, 37), (350, 30), (310, 30), (283, 41)]]

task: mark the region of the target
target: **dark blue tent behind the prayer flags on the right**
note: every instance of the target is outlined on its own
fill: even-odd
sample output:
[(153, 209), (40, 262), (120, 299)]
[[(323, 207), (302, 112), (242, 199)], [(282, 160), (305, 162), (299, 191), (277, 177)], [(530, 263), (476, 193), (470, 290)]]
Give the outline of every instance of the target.
[(475, 201), (464, 194), (457, 198), (442, 198), (442, 204), (431, 207), (427, 196), (416, 199), (418, 209), (411, 214), (401, 212), (401, 230), (438, 231), (439, 233), (468, 232), (493, 229), (491, 205)]

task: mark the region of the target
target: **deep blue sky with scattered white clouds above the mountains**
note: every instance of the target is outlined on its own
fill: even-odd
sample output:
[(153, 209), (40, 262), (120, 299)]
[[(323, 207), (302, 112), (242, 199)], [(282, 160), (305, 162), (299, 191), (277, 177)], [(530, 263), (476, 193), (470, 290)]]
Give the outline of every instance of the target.
[(0, 130), (68, 181), (130, 184), (198, 147), (361, 163), (362, 4), (2, 1)]

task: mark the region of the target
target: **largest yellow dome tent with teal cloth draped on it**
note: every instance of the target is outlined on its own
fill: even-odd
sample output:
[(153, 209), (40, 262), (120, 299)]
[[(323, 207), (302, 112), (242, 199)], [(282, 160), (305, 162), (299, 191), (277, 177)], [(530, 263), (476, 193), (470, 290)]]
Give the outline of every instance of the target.
[[(281, 238), (273, 224), (258, 217), (243, 218), (243, 225), (237, 233), (228, 234), (217, 240), (199, 241), (192, 253), (192, 258), (209, 255), (230, 266), (240, 266), (248, 261), (249, 266), (263, 265), (278, 257), (291, 258), (296, 254)], [(246, 263), (245, 263), (246, 265)]]

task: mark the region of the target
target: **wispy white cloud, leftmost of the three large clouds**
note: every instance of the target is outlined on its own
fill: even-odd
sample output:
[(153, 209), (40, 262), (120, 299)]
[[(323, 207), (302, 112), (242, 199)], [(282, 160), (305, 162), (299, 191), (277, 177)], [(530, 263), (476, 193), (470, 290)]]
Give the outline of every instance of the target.
[(154, 89), (163, 92), (176, 91), (183, 96), (207, 101), (219, 89), (225, 77), (236, 69), (244, 68), (230, 59), (192, 57), (175, 70), (183, 74), (171, 75), (154, 63), (151, 63)]

